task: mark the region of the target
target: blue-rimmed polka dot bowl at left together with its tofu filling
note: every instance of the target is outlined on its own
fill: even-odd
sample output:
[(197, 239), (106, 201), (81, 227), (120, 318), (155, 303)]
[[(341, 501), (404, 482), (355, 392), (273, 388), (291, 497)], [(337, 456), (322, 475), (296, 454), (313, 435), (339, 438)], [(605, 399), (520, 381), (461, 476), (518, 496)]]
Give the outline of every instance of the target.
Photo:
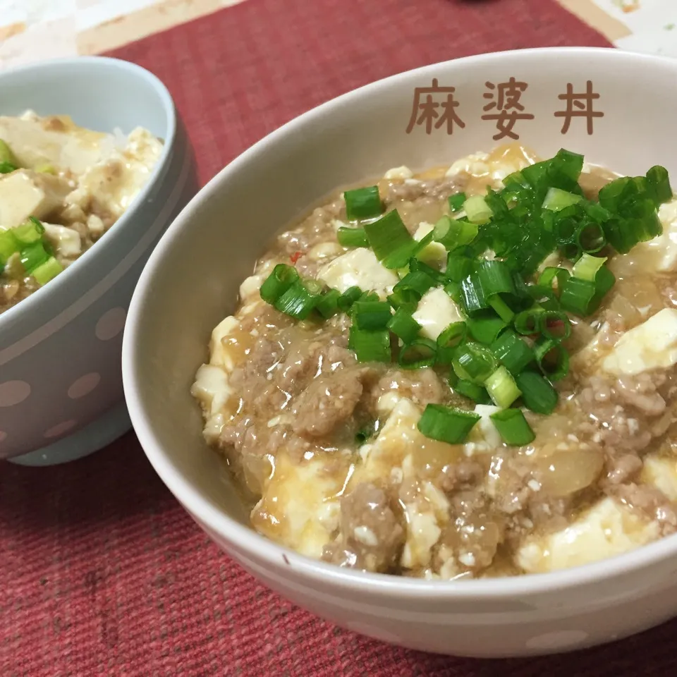
[(142, 68), (55, 61), (0, 87), (0, 458), (56, 463), (129, 427), (128, 300), (195, 170), (169, 93)]

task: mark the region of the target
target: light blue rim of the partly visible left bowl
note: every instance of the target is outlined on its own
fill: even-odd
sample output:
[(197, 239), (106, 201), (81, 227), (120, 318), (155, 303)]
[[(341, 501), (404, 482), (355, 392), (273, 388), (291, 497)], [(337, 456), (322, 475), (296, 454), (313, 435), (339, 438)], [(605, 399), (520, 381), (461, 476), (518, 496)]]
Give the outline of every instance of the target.
[[(126, 209), (125, 212), (117, 219), (117, 221), (109, 228), (102, 236), (97, 240), (92, 247), (87, 251), (83, 252), (71, 265), (68, 266), (62, 274), (57, 275), (56, 278), (51, 280), (49, 284), (46, 284), (30, 296), (25, 298), (23, 301), (20, 301), (16, 305), (13, 305), (11, 308), (8, 308), (5, 312), (0, 313), (0, 336), (5, 327), (7, 327), (15, 319), (20, 319), (19, 315), (25, 315), (30, 312), (42, 312), (46, 318), (51, 317), (50, 311), (45, 310), (47, 304), (51, 304), (51, 307), (60, 308), (61, 303), (59, 303), (58, 295), (61, 293), (60, 290), (63, 290), (64, 284), (66, 284), (66, 276), (70, 279), (73, 274), (77, 274), (79, 271), (85, 269), (85, 267), (92, 266), (97, 260), (101, 257), (106, 257), (106, 254), (103, 252), (103, 247), (97, 247), (99, 242), (105, 241), (106, 243), (111, 243), (112, 240), (118, 240), (121, 238), (121, 233), (125, 224), (133, 219), (137, 209), (146, 201), (148, 195), (156, 190), (158, 181), (166, 173), (166, 169), (169, 166), (169, 159), (174, 150), (175, 140), (176, 140), (176, 131), (177, 131), (177, 114), (176, 107), (174, 106), (173, 99), (166, 85), (146, 68), (138, 66), (136, 63), (131, 61), (125, 61), (123, 59), (115, 59), (111, 56), (66, 56), (58, 59), (49, 59), (48, 61), (38, 61), (36, 63), (21, 64), (19, 66), (14, 66), (8, 68), (6, 71), (0, 73), (0, 87), (4, 78), (14, 75), (20, 75), (28, 71), (47, 71), (45, 77), (49, 78), (49, 70), (54, 68), (54, 66), (71, 66), (72, 68), (82, 68), (83, 66), (96, 66), (105, 70), (107, 68), (119, 68), (121, 71), (126, 71), (132, 78), (140, 78), (140, 80), (145, 80), (145, 83), (152, 87), (157, 94), (164, 107), (164, 113), (166, 116), (166, 128), (167, 133), (164, 137), (163, 149), (160, 154), (160, 157), (155, 164), (153, 171), (143, 185), (142, 189), (134, 198), (132, 204)], [(74, 77), (77, 77), (75, 73)], [(54, 115), (57, 115), (55, 113)], [(112, 132), (112, 130), (109, 130)], [(105, 132), (104, 132), (105, 133)], [(122, 226), (122, 227), (118, 227)], [(73, 273), (71, 274), (71, 271)], [(51, 313), (53, 315), (53, 313)]]

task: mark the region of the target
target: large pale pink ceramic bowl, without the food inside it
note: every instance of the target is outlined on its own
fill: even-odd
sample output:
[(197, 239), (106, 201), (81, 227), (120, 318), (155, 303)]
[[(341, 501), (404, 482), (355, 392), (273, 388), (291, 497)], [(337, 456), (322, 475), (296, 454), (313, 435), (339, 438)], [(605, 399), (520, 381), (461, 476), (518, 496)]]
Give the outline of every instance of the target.
[[(427, 66), (346, 94), (283, 126), (202, 189), (163, 236), (130, 305), (123, 378), (133, 425), (171, 492), (225, 551), (293, 602), (374, 638), (432, 652), (506, 657), (621, 638), (677, 614), (677, 537), (559, 573), (439, 582), (346, 571), (257, 535), (189, 394), (210, 331), (274, 231), (337, 186), (458, 159), (496, 142), (482, 120), (487, 81), (529, 86), (520, 140), (560, 147), (624, 173), (663, 164), (677, 176), (677, 61), (610, 49), (530, 49)], [(415, 87), (456, 87), (465, 128), (405, 133)], [(594, 133), (559, 94), (592, 82)], [(199, 261), (177, 279), (184, 260)], [(161, 291), (161, 293), (157, 293)]]

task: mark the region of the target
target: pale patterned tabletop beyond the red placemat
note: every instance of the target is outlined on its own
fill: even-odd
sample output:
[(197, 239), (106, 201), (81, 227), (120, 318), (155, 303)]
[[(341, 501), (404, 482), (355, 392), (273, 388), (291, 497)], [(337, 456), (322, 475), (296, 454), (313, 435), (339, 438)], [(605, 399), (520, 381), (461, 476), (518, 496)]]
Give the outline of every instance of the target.
[[(0, 68), (100, 54), (241, 1), (0, 0)], [(675, 0), (558, 1), (616, 47), (677, 57)]]

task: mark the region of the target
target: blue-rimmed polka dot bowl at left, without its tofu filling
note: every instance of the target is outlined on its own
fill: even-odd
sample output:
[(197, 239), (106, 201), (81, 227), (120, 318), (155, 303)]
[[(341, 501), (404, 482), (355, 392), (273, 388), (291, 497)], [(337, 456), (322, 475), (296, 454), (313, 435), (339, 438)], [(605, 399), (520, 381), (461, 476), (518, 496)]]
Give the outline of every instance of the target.
[(106, 132), (142, 126), (165, 141), (150, 181), (111, 230), (0, 315), (0, 458), (50, 465), (97, 451), (130, 428), (120, 366), (127, 307), (197, 178), (169, 92), (139, 66), (59, 59), (1, 73), (0, 90), (4, 115), (67, 114)]

